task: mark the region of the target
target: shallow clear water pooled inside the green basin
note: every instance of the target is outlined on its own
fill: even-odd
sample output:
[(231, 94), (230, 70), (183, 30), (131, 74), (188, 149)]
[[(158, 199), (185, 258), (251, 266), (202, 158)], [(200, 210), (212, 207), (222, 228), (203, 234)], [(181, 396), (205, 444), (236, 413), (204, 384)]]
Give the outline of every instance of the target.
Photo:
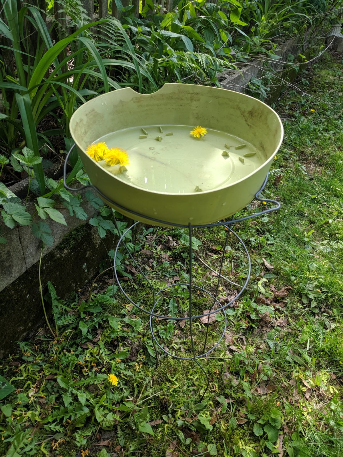
[[(139, 138), (145, 136), (142, 128), (146, 138)], [(204, 137), (193, 138), (193, 128), (148, 125), (109, 133), (95, 143), (124, 149), (130, 165), (126, 165), (127, 171), (119, 173), (118, 165), (109, 166), (104, 161), (99, 164), (118, 179), (142, 189), (182, 194), (225, 187), (249, 175), (265, 161), (263, 153), (244, 139), (211, 129)], [(158, 137), (161, 141), (155, 139)]]

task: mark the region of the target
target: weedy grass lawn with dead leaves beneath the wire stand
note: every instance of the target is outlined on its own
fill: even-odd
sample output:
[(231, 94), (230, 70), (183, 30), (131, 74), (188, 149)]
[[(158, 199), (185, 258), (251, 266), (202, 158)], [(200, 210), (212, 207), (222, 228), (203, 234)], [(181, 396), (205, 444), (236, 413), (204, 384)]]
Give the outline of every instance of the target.
[[(285, 139), (264, 196), (278, 198), (282, 207), (236, 226), (252, 257), (252, 276), (241, 300), (226, 311), (225, 339), (210, 354), (218, 358), (201, 361), (210, 378), (204, 399), (206, 377), (192, 361), (158, 350), (156, 368), (149, 319), (112, 285), (112, 274), (99, 276), (90, 301), (90, 285), (68, 303), (50, 287), (59, 336), (53, 340), (41, 329), (1, 367), (16, 390), (0, 403), (0, 455), (342, 455), (341, 59), (326, 54), (299, 77), (298, 90), (287, 90), (275, 105)], [(137, 234), (136, 255), (157, 290), (179, 282), (176, 277), (187, 281), (183, 234), (176, 228)], [(213, 293), (216, 276), (201, 260), (218, 269), (226, 232), (193, 235), (199, 241), (194, 284)], [(229, 246), (224, 274), (241, 284), (247, 260), (231, 236)], [(151, 309), (152, 293), (125, 255), (120, 268), (129, 296)], [(221, 284), (223, 303), (235, 288)], [(158, 306), (183, 315), (187, 298), (186, 288), (172, 287)], [(194, 293), (194, 300), (199, 312), (212, 304), (203, 293)], [(190, 356), (184, 324), (153, 319), (160, 344)], [(205, 329), (194, 324), (197, 351)], [(208, 348), (222, 329), (218, 315), (209, 324)], [(117, 387), (107, 381), (111, 372)]]

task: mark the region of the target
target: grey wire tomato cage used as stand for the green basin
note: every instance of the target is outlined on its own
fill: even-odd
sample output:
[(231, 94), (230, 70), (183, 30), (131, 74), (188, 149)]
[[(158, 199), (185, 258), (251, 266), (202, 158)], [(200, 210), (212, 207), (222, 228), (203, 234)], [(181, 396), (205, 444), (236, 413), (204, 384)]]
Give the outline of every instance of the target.
[[(204, 375), (206, 377), (207, 385), (204, 388), (203, 392), (201, 393), (201, 400), (204, 398), (205, 393), (209, 389), (210, 385), (210, 379), (202, 365), (200, 364), (199, 361), (201, 360), (207, 360), (211, 358), (223, 358), (221, 356), (209, 356), (209, 354), (214, 351), (215, 348), (217, 348), (220, 345), (220, 342), (223, 340), (225, 337), (225, 332), (227, 329), (227, 308), (233, 305), (234, 302), (238, 298), (240, 298), (245, 291), (250, 274), (251, 274), (251, 259), (249, 252), (247, 250), (247, 246), (244, 244), (243, 240), (240, 238), (240, 236), (231, 228), (231, 226), (235, 223), (240, 223), (243, 221), (246, 221), (248, 219), (252, 218), (257, 218), (259, 216), (262, 216), (264, 214), (271, 213), (273, 211), (278, 210), (281, 207), (281, 204), (277, 202), (276, 200), (272, 199), (267, 199), (260, 197), (261, 192), (265, 188), (267, 181), (268, 181), (268, 174), (263, 182), (263, 185), (261, 186), (260, 190), (255, 194), (255, 199), (258, 202), (263, 202), (265, 204), (269, 203), (273, 205), (273, 207), (268, 207), (263, 211), (259, 211), (257, 213), (249, 214), (247, 216), (241, 217), (241, 218), (236, 218), (236, 219), (231, 219), (227, 221), (217, 221), (214, 223), (209, 223), (209, 224), (201, 224), (201, 225), (192, 225), (191, 223), (188, 223), (188, 225), (183, 225), (183, 224), (178, 224), (178, 223), (173, 223), (171, 221), (163, 221), (157, 218), (152, 218), (148, 217), (145, 214), (140, 214), (135, 211), (130, 210), (127, 207), (123, 207), (122, 205), (118, 204), (117, 202), (112, 201), (109, 199), (107, 196), (105, 196), (99, 189), (97, 189), (95, 186), (86, 185), (78, 188), (72, 188), (68, 186), (67, 184), (67, 178), (66, 178), (66, 173), (67, 173), (67, 161), (69, 159), (69, 156), (75, 147), (75, 144), (71, 147), (70, 151), (68, 152), (66, 159), (64, 161), (64, 176), (63, 176), (63, 182), (64, 182), (64, 187), (71, 191), (71, 192), (79, 192), (81, 190), (84, 190), (86, 188), (92, 188), (94, 189), (100, 197), (102, 197), (105, 201), (109, 202), (111, 206), (118, 208), (119, 210), (122, 209), (126, 213), (129, 213), (132, 215), (132, 218), (149, 218), (153, 220), (154, 222), (158, 223), (158, 225), (166, 225), (166, 226), (173, 226), (173, 227), (179, 227), (179, 228), (187, 228), (188, 231), (188, 274), (185, 275), (187, 278), (187, 281), (185, 282), (175, 282), (173, 284), (166, 285), (165, 287), (158, 288), (156, 290), (154, 283), (156, 281), (153, 281), (150, 277), (148, 277), (148, 274), (146, 273), (146, 269), (143, 267), (142, 260), (136, 260), (134, 258), (134, 255), (132, 253), (132, 250), (129, 249), (127, 243), (125, 242), (126, 235), (130, 230), (136, 230), (137, 225), (140, 224), (139, 221), (134, 222), (129, 228), (127, 228), (123, 234), (120, 236), (120, 239), (117, 243), (116, 249), (115, 249), (115, 254), (114, 254), (114, 259), (113, 259), (113, 266), (114, 266), (114, 274), (118, 283), (118, 286), (123, 292), (123, 295), (125, 298), (132, 303), (139, 311), (144, 312), (148, 316), (150, 316), (149, 319), (149, 327), (150, 327), (150, 333), (151, 333), (151, 338), (152, 338), (152, 343), (154, 345), (155, 349), (155, 357), (156, 357), (156, 367), (158, 367), (158, 351), (157, 348), (159, 348), (162, 352), (164, 352), (167, 356), (171, 356), (175, 359), (178, 360), (193, 360), (194, 363), (198, 365), (198, 367), (204, 372)], [(119, 227), (118, 227), (118, 222), (116, 218), (114, 218), (114, 225), (119, 232)], [(193, 281), (193, 263), (194, 263), (194, 248), (193, 248), (193, 230), (194, 229), (199, 229), (199, 228), (213, 228), (213, 227), (224, 227), (226, 231), (226, 236), (225, 236), (225, 244), (222, 247), (222, 254), (220, 256), (220, 264), (217, 267), (218, 271), (214, 271), (210, 266), (205, 264), (212, 272), (215, 273), (216, 276), (216, 284), (214, 286), (214, 292), (211, 293), (208, 290), (206, 290), (204, 287), (200, 287), (196, 284), (194, 284)], [(246, 262), (247, 262), (247, 276), (244, 281), (243, 285), (239, 285), (236, 282), (230, 281), (226, 276), (223, 274), (223, 268), (225, 264), (225, 254), (227, 251), (228, 247), (228, 242), (229, 242), (229, 235), (232, 235), (234, 239), (236, 239), (237, 244), (241, 247), (241, 250), (243, 254), (246, 257)], [(123, 287), (123, 281), (120, 280), (120, 277), (118, 276), (118, 271), (116, 270), (116, 265), (117, 265), (117, 260), (118, 260), (118, 255), (120, 253), (121, 249), (124, 249), (128, 256), (129, 259), (132, 261), (132, 264), (135, 266), (136, 271), (137, 271), (137, 276), (139, 275), (139, 278), (142, 279), (142, 283), (144, 287), (149, 287), (150, 292), (151, 292), (151, 303), (147, 303), (146, 305), (142, 306), (142, 303), (138, 303), (135, 301), (133, 298), (131, 298), (128, 294), (128, 292), (125, 290)], [(135, 254), (135, 245), (134, 245), (134, 250)], [(203, 262), (204, 263), (204, 262)], [(234, 296), (230, 297), (230, 300), (228, 300), (225, 304), (222, 304), (218, 298), (219, 292), (220, 292), (220, 283), (221, 281), (226, 281), (230, 282), (232, 285), (235, 287), (239, 288), (240, 290), (237, 292)], [(166, 301), (170, 299), (170, 296), (172, 295), (171, 290), (176, 291), (174, 293), (174, 297), (171, 298), (169, 301), (169, 304), (166, 304)], [(182, 291), (182, 293), (180, 293)], [(200, 304), (198, 303), (199, 297), (200, 296)], [(178, 300), (176, 300), (177, 298)], [(172, 301), (174, 299), (174, 302)], [(209, 309), (206, 310), (205, 312), (199, 312), (199, 309), (201, 307), (204, 307), (204, 303), (212, 303), (211, 306), (209, 306)], [(208, 305), (207, 305), (208, 306)], [(149, 309), (147, 309), (149, 308)], [(171, 309), (172, 308), (172, 309)], [(162, 311), (168, 311), (163, 313)], [(177, 315), (179, 314), (179, 315)], [(216, 342), (211, 345), (210, 348), (208, 348), (208, 340), (209, 340), (209, 327), (210, 323), (214, 321), (214, 318), (218, 320), (218, 322), (221, 323), (222, 329), (219, 329), (220, 331), (216, 334), (218, 337)], [(202, 328), (199, 325), (199, 322), (205, 325), (205, 329)], [(166, 329), (160, 329), (156, 328), (158, 327), (157, 324), (159, 323), (166, 323)], [(188, 324), (186, 326), (186, 323)], [(169, 328), (168, 328), (169, 327)], [(186, 354), (178, 355), (175, 351), (175, 348), (173, 350), (170, 350), (165, 344), (163, 344), (163, 340), (165, 338), (168, 338), (169, 336), (173, 334), (173, 330), (177, 331), (181, 334), (183, 334), (184, 340), (182, 341), (184, 345), (186, 346), (186, 350), (184, 349), (184, 345), (182, 345), (182, 350), (186, 352)], [(198, 331), (199, 330), (199, 331)], [(200, 334), (200, 338), (198, 341), (198, 348), (202, 348), (201, 350), (198, 349), (196, 351), (196, 345), (194, 344), (194, 331), (198, 331)], [(214, 332), (212, 332), (214, 333)], [(178, 337), (178, 341), (180, 342), (180, 338), (182, 339), (182, 336)], [(171, 346), (173, 347), (173, 343), (171, 341)]]

